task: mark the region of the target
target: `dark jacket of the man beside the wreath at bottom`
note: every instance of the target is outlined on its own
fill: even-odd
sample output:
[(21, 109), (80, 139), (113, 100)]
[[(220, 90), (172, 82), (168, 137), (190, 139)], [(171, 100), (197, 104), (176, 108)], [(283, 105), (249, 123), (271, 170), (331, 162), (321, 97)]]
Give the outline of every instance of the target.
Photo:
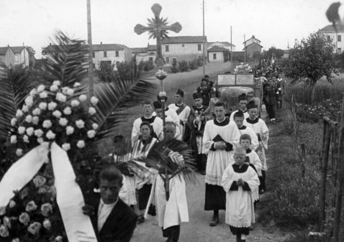
[(95, 215), (91, 217), (91, 221), (98, 242), (129, 242), (133, 236), (138, 218), (133, 209), (119, 198), (109, 217), (107, 217), (101, 227), (101, 231), (98, 231), (100, 194), (94, 193), (94, 196), (98, 196), (99, 199), (97, 199), (98, 202), (96, 204), (93, 204)]

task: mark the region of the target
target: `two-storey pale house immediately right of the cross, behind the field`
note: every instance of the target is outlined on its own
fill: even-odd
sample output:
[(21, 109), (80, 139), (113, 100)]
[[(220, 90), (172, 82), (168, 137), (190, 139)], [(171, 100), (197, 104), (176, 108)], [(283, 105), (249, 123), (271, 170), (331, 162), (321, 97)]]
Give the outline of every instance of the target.
[[(207, 50), (206, 36), (204, 38), (204, 50)], [(177, 36), (162, 40), (162, 57), (166, 65), (177, 64), (178, 61), (202, 59), (203, 36)]]

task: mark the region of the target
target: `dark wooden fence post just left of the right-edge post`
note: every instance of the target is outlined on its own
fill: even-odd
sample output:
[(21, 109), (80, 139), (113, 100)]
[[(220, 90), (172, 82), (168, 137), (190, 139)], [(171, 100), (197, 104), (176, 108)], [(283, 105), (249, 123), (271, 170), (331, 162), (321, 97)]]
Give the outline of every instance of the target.
[(322, 158), (322, 179), (320, 186), (320, 216), (319, 216), (319, 231), (323, 232), (325, 222), (325, 200), (326, 200), (326, 180), (327, 180), (327, 164), (331, 143), (331, 125), (330, 119), (324, 117), (324, 137), (323, 137), (323, 158)]

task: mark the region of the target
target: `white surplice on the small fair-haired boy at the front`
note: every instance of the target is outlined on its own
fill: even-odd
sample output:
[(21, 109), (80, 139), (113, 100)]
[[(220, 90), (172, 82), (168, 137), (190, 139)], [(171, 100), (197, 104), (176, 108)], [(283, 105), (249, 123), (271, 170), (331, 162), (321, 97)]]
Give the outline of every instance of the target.
[[(237, 191), (229, 190), (233, 182), (243, 179), (251, 191), (244, 191), (242, 186)], [(225, 222), (233, 227), (249, 227), (255, 222), (254, 199), (252, 193), (258, 190), (259, 179), (257, 173), (250, 166), (243, 173), (235, 172), (233, 165), (229, 165), (223, 172), (222, 186), (226, 192)]]

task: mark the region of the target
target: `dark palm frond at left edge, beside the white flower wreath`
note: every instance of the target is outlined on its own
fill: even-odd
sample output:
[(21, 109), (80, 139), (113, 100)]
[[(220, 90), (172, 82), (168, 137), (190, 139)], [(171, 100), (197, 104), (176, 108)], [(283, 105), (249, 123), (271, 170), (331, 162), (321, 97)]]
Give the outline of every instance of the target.
[(8, 68), (0, 62), (0, 139), (6, 139), (13, 128), (11, 119), (17, 109), (22, 107), (27, 93), (30, 91), (30, 79), (27, 78), (25, 67)]

